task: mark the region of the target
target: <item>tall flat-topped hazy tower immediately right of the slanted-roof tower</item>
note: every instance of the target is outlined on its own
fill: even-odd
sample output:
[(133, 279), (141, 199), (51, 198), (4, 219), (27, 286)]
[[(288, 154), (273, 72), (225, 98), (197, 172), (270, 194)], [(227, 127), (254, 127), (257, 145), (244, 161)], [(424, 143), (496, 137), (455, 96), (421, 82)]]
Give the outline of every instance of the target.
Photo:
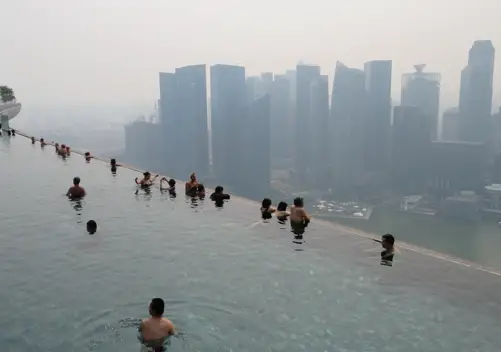
[(390, 60), (369, 61), (364, 65), (367, 91), (365, 118), (365, 168), (384, 171), (390, 154), (391, 129), (391, 69)]

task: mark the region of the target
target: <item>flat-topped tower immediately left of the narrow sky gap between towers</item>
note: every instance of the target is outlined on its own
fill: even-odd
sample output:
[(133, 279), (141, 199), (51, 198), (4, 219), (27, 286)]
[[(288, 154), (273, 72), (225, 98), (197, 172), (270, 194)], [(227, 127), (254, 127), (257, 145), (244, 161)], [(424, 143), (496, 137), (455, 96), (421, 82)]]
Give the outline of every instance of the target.
[[(207, 80), (205, 65), (176, 69), (175, 135), (177, 177), (191, 172), (209, 174), (209, 131), (207, 124)], [(180, 151), (182, 151), (180, 153)]]

